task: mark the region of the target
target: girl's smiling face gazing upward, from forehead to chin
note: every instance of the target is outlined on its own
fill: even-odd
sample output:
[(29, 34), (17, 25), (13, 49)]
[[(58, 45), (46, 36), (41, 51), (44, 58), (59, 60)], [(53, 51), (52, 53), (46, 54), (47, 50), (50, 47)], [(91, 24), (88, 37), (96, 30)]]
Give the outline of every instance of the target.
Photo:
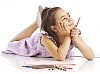
[(69, 13), (67, 13), (65, 10), (60, 9), (55, 14), (55, 19), (57, 21), (62, 21), (65, 25), (67, 25), (69, 30), (72, 30), (74, 28), (74, 21), (70, 17)]

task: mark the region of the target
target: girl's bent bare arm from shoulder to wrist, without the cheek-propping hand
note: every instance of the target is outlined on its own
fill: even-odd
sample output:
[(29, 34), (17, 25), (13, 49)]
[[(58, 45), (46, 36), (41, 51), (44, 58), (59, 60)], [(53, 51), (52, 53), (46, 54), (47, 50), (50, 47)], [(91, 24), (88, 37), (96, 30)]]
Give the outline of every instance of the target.
[(47, 48), (47, 51), (51, 54), (51, 56), (60, 61), (65, 60), (70, 42), (70, 37), (66, 36), (63, 43), (58, 48), (49, 38), (47, 38), (47, 36), (43, 35), (41, 39), (41, 43)]

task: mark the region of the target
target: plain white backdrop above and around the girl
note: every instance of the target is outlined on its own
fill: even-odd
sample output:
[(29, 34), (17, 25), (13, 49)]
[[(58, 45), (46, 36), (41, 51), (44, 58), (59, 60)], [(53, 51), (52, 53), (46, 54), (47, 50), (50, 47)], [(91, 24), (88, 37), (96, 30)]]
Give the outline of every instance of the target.
[[(99, 0), (0, 0), (0, 50), (36, 19), (38, 6), (59, 6), (69, 12), (76, 21), (81, 16), (78, 28), (87, 45), (95, 54), (100, 53), (100, 2)], [(36, 31), (36, 33), (39, 30)], [(74, 49), (75, 53), (79, 53)]]

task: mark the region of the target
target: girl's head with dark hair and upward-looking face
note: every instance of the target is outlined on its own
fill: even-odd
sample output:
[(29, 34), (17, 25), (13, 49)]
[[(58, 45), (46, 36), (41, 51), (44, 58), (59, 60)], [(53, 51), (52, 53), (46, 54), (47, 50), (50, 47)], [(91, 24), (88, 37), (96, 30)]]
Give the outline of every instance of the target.
[(54, 38), (58, 47), (60, 45), (60, 42), (57, 37), (58, 31), (56, 22), (63, 21), (63, 23), (68, 26), (69, 30), (72, 30), (74, 27), (74, 22), (71, 19), (69, 13), (67, 13), (60, 7), (45, 8), (42, 11), (41, 19), (41, 29), (46, 31), (49, 36), (52, 36)]

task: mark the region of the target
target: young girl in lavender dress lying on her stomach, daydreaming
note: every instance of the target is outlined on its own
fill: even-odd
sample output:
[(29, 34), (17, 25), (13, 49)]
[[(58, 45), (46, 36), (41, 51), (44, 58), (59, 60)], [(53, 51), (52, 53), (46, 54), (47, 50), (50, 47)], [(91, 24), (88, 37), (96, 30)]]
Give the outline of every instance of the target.
[[(69, 13), (60, 7), (45, 8), (41, 24), (35, 22), (12, 39), (3, 53), (21, 56), (53, 57), (65, 60), (71, 57), (72, 48), (77, 47), (87, 60), (93, 60), (93, 50), (83, 41), (79, 29)], [(41, 25), (41, 32), (32, 33)]]

